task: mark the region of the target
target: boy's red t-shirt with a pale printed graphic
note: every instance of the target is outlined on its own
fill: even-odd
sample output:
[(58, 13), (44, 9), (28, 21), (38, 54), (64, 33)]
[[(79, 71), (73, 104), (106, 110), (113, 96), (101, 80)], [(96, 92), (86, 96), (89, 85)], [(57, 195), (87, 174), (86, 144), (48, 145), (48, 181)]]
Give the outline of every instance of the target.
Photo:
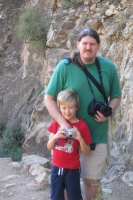
[[(92, 143), (90, 130), (87, 124), (82, 119), (79, 119), (77, 123), (68, 123), (71, 125), (71, 127), (77, 127), (86, 144)], [(48, 131), (56, 134), (58, 128), (59, 124), (54, 121), (48, 127)], [(78, 169), (80, 167), (79, 141), (73, 138), (58, 138), (53, 149), (52, 164), (56, 167)]]

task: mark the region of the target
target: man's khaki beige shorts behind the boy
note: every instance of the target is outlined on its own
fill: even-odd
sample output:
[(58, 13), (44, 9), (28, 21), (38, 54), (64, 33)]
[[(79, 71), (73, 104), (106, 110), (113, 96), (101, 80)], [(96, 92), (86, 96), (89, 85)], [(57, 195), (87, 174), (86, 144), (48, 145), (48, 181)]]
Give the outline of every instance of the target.
[(96, 144), (88, 156), (81, 154), (81, 178), (101, 180), (106, 171), (107, 144)]

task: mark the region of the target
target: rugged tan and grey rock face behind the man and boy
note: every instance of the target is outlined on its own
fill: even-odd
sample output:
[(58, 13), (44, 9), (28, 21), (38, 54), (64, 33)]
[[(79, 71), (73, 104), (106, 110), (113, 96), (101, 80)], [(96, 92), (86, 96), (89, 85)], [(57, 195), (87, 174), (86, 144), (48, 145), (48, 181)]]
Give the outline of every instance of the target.
[[(46, 148), (47, 126), (52, 121), (43, 103), (44, 90), (56, 64), (76, 50), (76, 35), (85, 27), (98, 31), (99, 55), (117, 66), (122, 101), (109, 119), (110, 175), (133, 171), (133, 2), (132, 0), (34, 0), (0, 1), (0, 121), (7, 127), (16, 121), (26, 129), (26, 153), (50, 157)], [(38, 54), (22, 43), (15, 27), (26, 7), (34, 6), (51, 16), (47, 50)], [(126, 123), (125, 123), (126, 122)]]

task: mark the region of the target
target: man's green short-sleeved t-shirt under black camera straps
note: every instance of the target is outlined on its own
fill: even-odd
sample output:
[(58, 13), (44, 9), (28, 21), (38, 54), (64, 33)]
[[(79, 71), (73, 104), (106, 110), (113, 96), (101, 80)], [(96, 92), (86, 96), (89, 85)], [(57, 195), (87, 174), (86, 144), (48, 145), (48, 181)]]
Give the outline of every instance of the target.
[[(98, 59), (107, 97), (111, 100), (120, 97), (121, 89), (115, 65), (104, 57), (99, 56)], [(86, 75), (78, 66), (73, 63), (66, 65), (65, 62), (65, 59), (62, 60), (55, 68), (45, 93), (56, 98), (58, 93), (62, 90), (75, 90), (80, 99), (80, 108), (77, 111), (77, 117), (82, 118), (87, 123), (94, 143), (107, 143), (108, 122), (97, 122), (94, 117), (87, 113), (87, 107), (93, 100), (93, 95)], [(86, 68), (100, 83), (95, 63), (86, 65)], [(98, 102), (104, 102), (104, 98), (97, 87), (91, 81), (90, 84), (95, 99)]]

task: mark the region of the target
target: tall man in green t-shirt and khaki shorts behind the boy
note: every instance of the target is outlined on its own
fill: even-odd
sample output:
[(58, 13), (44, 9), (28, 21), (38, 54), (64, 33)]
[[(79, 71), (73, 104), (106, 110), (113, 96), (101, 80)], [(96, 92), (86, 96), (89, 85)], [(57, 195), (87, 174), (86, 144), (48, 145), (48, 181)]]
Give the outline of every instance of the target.
[(80, 109), (77, 116), (82, 118), (90, 128), (92, 141), (96, 144), (90, 155), (81, 154), (81, 177), (83, 179), (83, 194), (85, 200), (102, 199), (100, 180), (105, 173), (107, 157), (107, 119), (102, 112), (94, 116), (88, 114), (88, 105), (93, 100), (103, 102), (104, 97), (96, 85), (86, 77), (75, 60), (86, 67), (92, 76), (101, 84), (101, 79), (109, 99), (108, 106), (114, 112), (120, 104), (121, 89), (115, 65), (104, 57), (97, 56), (100, 63), (100, 73), (96, 65), (96, 55), (100, 48), (100, 38), (93, 29), (85, 29), (77, 40), (79, 52), (72, 57), (72, 62), (63, 59), (56, 67), (48, 88), (45, 92), (45, 105), (50, 115), (60, 124), (61, 128), (70, 125), (62, 117), (56, 104), (57, 94), (64, 89), (73, 89), (78, 93)]

